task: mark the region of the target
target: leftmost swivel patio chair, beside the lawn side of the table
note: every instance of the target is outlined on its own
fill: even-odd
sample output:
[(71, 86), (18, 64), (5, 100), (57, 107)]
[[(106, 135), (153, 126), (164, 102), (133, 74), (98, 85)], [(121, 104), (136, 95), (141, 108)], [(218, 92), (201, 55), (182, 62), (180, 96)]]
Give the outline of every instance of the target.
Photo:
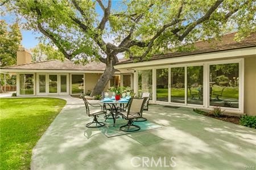
[[(86, 124), (86, 127), (87, 128), (99, 128), (101, 126), (104, 126), (105, 125), (104, 122), (99, 122), (98, 119), (97, 119), (99, 114), (105, 114), (106, 115), (106, 111), (104, 111), (102, 105), (101, 104), (90, 104), (85, 99), (84, 95), (81, 95), (81, 98), (82, 98), (82, 100), (84, 100), (86, 114), (89, 117), (93, 116), (93, 121), (89, 122), (88, 124)], [(101, 109), (94, 109), (94, 110), (90, 111), (89, 105), (92, 106), (92, 107), (99, 107), (99, 106), (101, 106)]]

